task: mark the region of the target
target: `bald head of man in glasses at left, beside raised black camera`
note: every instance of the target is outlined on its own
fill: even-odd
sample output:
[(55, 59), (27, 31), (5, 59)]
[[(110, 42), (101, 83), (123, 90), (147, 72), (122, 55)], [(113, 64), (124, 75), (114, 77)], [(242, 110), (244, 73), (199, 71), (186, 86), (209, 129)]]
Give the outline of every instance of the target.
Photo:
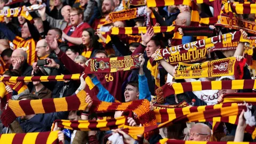
[(46, 43), (46, 39), (41, 39), (36, 44), (36, 54), (39, 58), (45, 57), (51, 53), (49, 45)]

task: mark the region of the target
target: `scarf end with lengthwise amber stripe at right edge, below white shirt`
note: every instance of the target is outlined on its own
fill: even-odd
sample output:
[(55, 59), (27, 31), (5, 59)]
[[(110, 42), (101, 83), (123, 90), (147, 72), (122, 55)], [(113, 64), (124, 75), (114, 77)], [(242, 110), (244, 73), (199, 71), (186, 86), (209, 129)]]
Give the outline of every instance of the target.
[(255, 93), (227, 93), (223, 95), (223, 103), (244, 103), (244, 101), (256, 105)]

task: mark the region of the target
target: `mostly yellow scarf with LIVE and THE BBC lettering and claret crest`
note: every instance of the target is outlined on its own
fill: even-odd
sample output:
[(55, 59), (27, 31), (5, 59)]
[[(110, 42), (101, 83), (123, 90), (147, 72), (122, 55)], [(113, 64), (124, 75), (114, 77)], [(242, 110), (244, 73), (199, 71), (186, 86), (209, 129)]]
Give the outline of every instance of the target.
[(235, 57), (206, 61), (203, 63), (187, 64), (179, 62), (174, 75), (175, 79), (233, 76), (243, 78), (246, 59), (237, 61)]

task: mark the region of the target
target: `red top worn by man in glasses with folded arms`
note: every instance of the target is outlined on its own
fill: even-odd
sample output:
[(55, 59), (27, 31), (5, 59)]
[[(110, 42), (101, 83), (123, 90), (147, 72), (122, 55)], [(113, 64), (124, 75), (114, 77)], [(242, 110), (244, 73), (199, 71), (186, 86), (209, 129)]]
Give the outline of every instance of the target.
[[(68, 31), (72, 28), (73, 26), (68, 26), (66, 27), (63, 31), (65, 34), (68, 34)], [(78, 27), (76, 27), (75, 31), (73, 31), (73, 33), (70, 35), (71, 37), (82, 37), (82, 33), (83, 33), (83, 30), (86, 29), (86, 28), (90, 28), (91, 26), (84, 22), (82, 25), (79, 25)], [(68, 46), (73, 46), (75, 44), (73, 43), (69, 43), (68, 42)]]

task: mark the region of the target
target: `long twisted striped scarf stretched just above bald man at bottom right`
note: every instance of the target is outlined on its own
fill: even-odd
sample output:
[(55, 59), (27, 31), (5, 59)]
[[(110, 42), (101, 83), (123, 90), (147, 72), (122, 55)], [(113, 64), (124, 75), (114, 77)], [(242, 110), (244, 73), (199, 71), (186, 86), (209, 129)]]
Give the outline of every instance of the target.
[(123, 131), (130, 135), (139, 135), (145, 132), (161, 129), (162, 127), (165, 127), (167, 125), (169, 126), (175, 123), (221, 121), (222, 119), (220, 117), (226, 118), (229, 116), (237, 116), (242, 112), (242, 110), (247, 111), (247, 107), (231, 105), (229, 107), (221, 107), (219, 109), (210, 109), (210, 110), (204, 110), (204, 111), (198, 111), (195, 113), (186, 114), (183, 116), (176, 117), (175, 119), (172, 119), (170, 121), (161, 123), (159, 125), (129, 127), (129, 128), (123, 129)]

